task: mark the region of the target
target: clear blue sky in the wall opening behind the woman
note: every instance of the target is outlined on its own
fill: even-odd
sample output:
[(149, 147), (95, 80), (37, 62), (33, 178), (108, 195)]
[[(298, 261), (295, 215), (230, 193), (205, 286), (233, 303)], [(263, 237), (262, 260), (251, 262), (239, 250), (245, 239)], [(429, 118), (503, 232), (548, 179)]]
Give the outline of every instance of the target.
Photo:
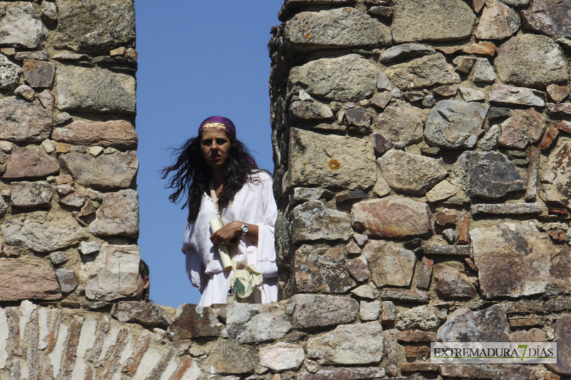
[(141, 258), (151, 299), (198, 303), (181, 253), (186, 210), (168, 202), (159, 171), (168, 148), (211, 115), (231, 118), (261, 168), (273, 171), (268, 95), (270, 29), (283, 0), (135, 1)]

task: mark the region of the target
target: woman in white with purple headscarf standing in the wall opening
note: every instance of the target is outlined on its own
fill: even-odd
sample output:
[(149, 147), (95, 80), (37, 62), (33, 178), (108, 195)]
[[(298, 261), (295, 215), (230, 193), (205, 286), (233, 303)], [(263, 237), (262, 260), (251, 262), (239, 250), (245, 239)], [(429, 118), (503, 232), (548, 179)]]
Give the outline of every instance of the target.
[[(173, 172), (168, 183), (175, 189), (169, 197), (172, 202), (186, 198), (182, 251), (186, 273), (202, 294), (199, 304), (227, 302), (234, 271), (223, 270), (220, 245), (228, 247), (236, 269), (250, 265), (261, 272), (263, 281), (254, 289), (253, 302), (277, 301), (273, 231), (278, 210), (271, 176), (258, 170), (246, 146), (236, 139), (232, 121), (221, 116), (204, 120), (198, 136), (181, 145), (176, 155), (176, 163), (163, 169), (163, 178)], [(213, 232), (210, 223), (218, 218), (217, 210), (223, 227)]]

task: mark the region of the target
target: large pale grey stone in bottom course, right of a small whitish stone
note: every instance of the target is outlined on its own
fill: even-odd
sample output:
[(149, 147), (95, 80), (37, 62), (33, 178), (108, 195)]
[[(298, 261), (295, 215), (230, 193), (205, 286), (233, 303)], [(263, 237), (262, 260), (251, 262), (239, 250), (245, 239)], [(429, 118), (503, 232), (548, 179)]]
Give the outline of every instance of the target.
[(383, 335), (378, 322), (335, 327), (322, 337), (310, 338), (308, 356), (323, 364), (371, 364), (383, 357)]

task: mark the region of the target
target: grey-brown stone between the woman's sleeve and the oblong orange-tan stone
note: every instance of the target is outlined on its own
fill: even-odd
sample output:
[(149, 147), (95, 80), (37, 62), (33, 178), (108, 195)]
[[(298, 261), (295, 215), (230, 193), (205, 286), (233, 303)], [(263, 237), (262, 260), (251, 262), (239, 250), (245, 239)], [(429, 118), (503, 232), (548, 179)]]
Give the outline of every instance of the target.
[(293, 209), (293, 241), (348, 240), (353, 235), (345, 212), (330, 210), (320, 200), (310, 200)]

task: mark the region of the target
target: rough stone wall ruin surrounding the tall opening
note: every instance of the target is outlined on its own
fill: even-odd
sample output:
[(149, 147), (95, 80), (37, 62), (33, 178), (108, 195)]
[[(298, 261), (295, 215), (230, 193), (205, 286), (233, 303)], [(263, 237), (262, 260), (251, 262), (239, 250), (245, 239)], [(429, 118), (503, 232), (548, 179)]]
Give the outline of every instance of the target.
[[(571, 379), (571, 4), (285, 0), (281, 301), (134, 301), (133, 0), (0, 2), (0, 380)], [(557, 364), (430, 364), (430, 342)]]

